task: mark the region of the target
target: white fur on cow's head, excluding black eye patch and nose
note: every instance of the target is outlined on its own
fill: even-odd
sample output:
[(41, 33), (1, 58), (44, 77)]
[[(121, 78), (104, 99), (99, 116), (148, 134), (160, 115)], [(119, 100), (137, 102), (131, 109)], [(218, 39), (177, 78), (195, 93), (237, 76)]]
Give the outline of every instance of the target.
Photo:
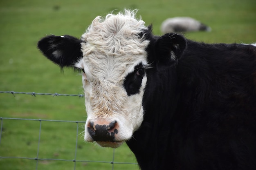
[(101, 118), (117, 121), (117, 144), (98, 142), (101, 146), (115, 148), (130, 139), (143, 120), (146, 75), (138, 94), (128, 96), (124, 88), (125, 77), (137, 64), (148, 66), (145, 49), (149, 42), (138, 37), (147, 27), (144, 21), (135, 18), (136, 13), (136, 10), (125, 10), (124, 14), (110, 13), (106, 18), (98, 16), (81, 37), (83, 59), (76, 67), (85, 70), (83, 88), (88, 115), (85, 141), (93, 141), (86, 129), (89, 121)]

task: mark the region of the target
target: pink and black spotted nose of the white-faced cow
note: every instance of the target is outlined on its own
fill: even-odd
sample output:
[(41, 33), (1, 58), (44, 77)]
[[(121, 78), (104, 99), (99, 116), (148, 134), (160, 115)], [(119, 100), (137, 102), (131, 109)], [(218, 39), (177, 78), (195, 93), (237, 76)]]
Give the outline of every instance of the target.
[(87, 130), (94, 141), (115, 141), (117, 121), (90, 121)]

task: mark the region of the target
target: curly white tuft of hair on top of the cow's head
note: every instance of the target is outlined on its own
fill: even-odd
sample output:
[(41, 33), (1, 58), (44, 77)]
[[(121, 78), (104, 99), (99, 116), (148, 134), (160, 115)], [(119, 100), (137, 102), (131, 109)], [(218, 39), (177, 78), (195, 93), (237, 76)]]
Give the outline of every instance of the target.
[(119, 12), (117, 15), (110, 13), (105, 18), (96, 17), (81, 36), (81, 40), (86, 42), (86, 53), (90, 53), (88, 49), (114, 55), (123, 55), (130, 51), (142, 53), (148, 41), (144, 40), (141, 33), (148, 27), (144, 26), (145, 22), (141, 18), (136, 18), (136, 13), (137, 10), (125, 9), (124, 13)]

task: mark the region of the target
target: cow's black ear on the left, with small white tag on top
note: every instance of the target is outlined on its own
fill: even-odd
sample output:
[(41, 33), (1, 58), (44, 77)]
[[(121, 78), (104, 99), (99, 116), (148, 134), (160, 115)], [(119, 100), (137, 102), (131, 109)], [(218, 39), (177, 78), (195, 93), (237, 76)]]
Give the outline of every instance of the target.
[(81, 40), (70, 35), (49, 35), (38, 41), (38, 49), (49, 60), (61, 66), (73, 66), (83, 54), (81, 52)]

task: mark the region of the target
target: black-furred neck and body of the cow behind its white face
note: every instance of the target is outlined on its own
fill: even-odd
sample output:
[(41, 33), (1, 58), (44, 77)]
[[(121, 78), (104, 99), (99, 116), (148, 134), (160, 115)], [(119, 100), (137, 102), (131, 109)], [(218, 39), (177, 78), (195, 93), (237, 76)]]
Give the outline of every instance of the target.
[[(157, 41), (149, 60), (163, 57)], [(144, 121), (127, 141), (141, 170), (256, 170), (256, 47), (186, 42), (177, 64), (146, 70)]]

